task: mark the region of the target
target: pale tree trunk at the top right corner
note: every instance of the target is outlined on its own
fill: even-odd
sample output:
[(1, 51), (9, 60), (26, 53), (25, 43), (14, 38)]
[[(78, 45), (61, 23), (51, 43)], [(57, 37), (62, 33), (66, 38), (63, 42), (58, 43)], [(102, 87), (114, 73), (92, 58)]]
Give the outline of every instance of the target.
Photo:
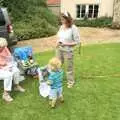
[(114, 1), (113, 27), (120, 29), (120, 0)]

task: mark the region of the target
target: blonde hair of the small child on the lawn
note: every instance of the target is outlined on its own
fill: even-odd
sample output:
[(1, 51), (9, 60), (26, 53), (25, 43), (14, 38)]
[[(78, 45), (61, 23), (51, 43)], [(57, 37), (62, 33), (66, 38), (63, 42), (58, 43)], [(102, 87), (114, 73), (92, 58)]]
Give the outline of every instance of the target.
[(49, 61), (49, 67), (53, 71), (59, 70), (61, 68), (61, 65), (61, 61), (57, 57), (54, 57)]

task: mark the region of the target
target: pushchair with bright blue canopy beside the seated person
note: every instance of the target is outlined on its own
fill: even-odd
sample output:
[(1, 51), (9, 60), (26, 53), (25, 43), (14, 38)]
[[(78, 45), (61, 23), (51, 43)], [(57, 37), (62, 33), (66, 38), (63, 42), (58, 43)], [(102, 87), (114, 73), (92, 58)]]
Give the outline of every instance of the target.
[(18, 63), (18, 68), (22, 74), (37, 76), (39, 65), (33, 57), (31, 46), (17, 47), (13, 49), (13, 56)]

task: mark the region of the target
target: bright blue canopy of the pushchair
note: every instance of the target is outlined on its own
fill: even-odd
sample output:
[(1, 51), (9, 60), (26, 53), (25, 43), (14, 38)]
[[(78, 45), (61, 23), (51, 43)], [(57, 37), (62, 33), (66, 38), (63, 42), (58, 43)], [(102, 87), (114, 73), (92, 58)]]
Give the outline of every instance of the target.
[(14, 48), (13, 55), (15, 58), (19, 60), (28, 60), (28, 57), (32, 57), (32, 47), (31, 46), (25, 46), (25, 47), (18, 47)]

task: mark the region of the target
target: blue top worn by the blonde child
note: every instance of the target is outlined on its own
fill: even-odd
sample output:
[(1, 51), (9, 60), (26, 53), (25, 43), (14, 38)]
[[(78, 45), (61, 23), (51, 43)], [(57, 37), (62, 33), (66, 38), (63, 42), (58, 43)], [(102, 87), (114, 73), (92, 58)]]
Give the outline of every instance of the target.
[(51, 82), (51, 89), (57, 89), (62, 87), (63, 71), (51, 72), (48, 76), (48, 80)]

